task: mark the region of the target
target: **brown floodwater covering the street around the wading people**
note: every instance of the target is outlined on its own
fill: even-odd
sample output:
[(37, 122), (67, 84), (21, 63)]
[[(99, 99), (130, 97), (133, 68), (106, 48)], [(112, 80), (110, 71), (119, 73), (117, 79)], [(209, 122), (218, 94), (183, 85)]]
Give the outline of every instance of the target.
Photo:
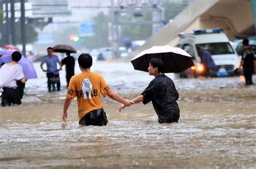
[[(26, 82), (22, 105), (0, 108), (0, 168), (255, 168), (256, 85), (242, 77), (173, 79), (180, 98), (178, 123), (159, 124), (152, 103), (122, 112), (102, 97), (109, 123), (79, 128), (77, 103), (62, 121), (66, 93), (47, 92), (45, 73)], [(130, 62), (94, 62), (113, 91), (132, 99), (153, 76)], [(76, 71), (80, 73), (76, 61)], [(256, 75), (253, 81), (256, 83)]]

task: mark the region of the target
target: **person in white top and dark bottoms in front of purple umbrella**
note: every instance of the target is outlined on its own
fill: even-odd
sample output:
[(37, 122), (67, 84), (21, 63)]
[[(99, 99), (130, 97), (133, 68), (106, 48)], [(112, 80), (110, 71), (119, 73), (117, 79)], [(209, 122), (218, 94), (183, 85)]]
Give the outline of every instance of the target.
[(12, 62), (4, 64), (0, 69), (0, 89), (3, 91), (2, 107), (8, 107), (11, 104), (21, 104), (17, 80), (22, 83), (26, 82), (22, 66), (17, 64), (21, 57), (21, 53), (15, 51), (11, 55)]

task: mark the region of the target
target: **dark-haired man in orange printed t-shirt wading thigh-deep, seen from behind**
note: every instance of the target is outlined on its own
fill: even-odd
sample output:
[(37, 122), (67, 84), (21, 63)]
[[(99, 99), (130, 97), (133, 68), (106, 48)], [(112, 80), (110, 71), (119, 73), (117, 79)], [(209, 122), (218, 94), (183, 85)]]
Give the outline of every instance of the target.
[(68, 93), (64, 100), (62, 119), (66, 122), (68, 108), (75, 97), (78, 103), (78, 116), (80, 125), (98, 125), (107, 124), (106, 113), (100, 102), (99, 96), (107, 95), (113, 100), (123, 103), (126, 106), (134, 104), (133, 101), (124, 99), (117, 93), (114, 93), (105, 82), (102, 75), (91, 72), (92, 57), (90, 54), (82, 53), (78, 58), (79, 68), (82, 73), (72, 76), (69, 83)]

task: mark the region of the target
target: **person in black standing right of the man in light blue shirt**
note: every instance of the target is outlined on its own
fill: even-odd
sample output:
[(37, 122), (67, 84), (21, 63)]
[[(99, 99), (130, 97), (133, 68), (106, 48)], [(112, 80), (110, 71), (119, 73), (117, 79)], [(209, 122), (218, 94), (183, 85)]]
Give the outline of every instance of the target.
[(69, 86), (69, 81), (71, 77), (75, 74), (75, 58), (70, 55), (70, 53), (66, 53), (66, 57), (61, 61), (62, 66), (66, 65), (66, 86)]

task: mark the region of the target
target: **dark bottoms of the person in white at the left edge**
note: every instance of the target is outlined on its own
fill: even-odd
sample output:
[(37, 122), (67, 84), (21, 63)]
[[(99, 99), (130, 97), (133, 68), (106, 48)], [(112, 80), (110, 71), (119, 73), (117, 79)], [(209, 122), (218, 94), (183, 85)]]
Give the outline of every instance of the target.
[(21, 97), (17, 87), (3, 87), (2, 93), (2, 107), (10, 106), (12, 104), (21, 104)]

